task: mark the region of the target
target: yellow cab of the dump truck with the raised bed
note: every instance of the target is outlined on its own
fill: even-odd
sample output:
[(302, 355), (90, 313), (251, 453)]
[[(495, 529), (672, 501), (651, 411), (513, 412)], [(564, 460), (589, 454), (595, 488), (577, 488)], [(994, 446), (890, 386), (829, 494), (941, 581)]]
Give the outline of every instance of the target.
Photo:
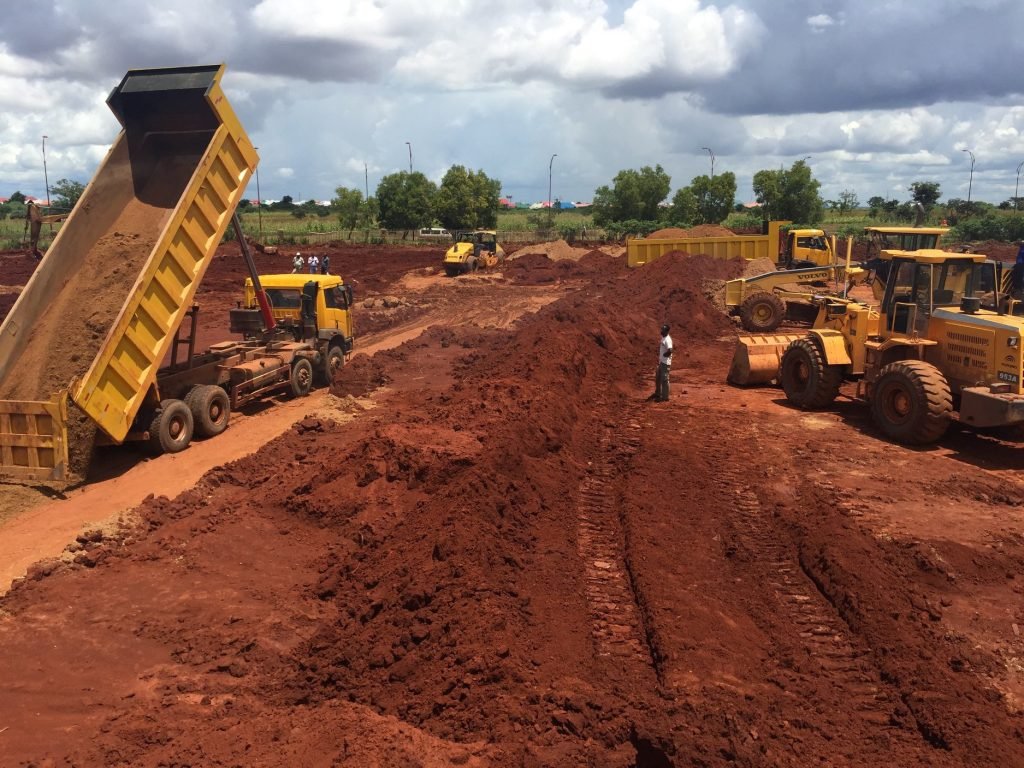
[[(352, 287), (337, 274), (265, 274), (260, 283), (278, 327), (316, 348), (317, 373), (330, 382), (354, 343)], [(251, 278), (246, 279), (245, 306), (258, 306)], [(242, 333), (248, 338), (249, 332)], [(258, 333), (253, 328), (251, 335)]]

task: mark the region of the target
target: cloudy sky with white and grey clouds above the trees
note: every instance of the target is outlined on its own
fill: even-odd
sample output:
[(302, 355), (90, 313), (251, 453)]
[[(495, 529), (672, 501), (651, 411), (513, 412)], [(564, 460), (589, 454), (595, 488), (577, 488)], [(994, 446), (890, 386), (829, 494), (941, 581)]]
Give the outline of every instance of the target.
[[(5, 4), (7, 5), (7, 4)], [(1014, 194), (1021, 0), (26, 0), (0, 14), (0, 197), (87, 181), (129, 69), (226, 62), (263, 198), (371, 194), (413, 165), (590, 200), (624, 168), (683, 186), (808, 160), (826, 198)], [(255, 197), (255, 189), (250, 189)]]

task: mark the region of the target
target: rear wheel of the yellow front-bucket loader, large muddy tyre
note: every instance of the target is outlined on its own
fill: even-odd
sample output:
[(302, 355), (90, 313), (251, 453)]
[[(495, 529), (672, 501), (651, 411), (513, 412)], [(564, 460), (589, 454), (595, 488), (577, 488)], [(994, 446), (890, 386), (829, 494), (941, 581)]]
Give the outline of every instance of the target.
[(871, 416), (887, 437), (924, 445), (945, 434), (952, 400), (949, 383), (935, 366), (899, 360), (880, 372), (871, 393)]

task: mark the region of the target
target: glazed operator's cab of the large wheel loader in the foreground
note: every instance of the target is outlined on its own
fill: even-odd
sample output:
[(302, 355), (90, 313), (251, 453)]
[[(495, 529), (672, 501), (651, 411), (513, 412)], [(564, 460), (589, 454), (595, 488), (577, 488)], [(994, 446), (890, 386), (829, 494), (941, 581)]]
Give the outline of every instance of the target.
[(997, 306), (995, 264), (982, 255), (927, 249), (883, 251), (881, 259), (889, 275), (881, 307), (886, 337), (927, 335), (938, 308), (975, 312)]

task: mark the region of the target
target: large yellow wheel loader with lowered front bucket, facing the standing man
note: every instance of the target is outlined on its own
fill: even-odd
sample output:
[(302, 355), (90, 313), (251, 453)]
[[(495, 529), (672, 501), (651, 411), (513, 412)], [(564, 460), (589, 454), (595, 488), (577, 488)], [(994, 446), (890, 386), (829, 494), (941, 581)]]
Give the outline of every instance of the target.
[(1024, 423), (1024, 317), (1000, 295), (1001, 265), (934, 249), (881, 258), (889, 276), (879, 307), (815, 297), (810, 332), (740, 337), (729, 381), (777, 380), (808, 410), (856, 382), (882, 432), (906, 444), (938, 440), (954, 419), (978, 428)]

